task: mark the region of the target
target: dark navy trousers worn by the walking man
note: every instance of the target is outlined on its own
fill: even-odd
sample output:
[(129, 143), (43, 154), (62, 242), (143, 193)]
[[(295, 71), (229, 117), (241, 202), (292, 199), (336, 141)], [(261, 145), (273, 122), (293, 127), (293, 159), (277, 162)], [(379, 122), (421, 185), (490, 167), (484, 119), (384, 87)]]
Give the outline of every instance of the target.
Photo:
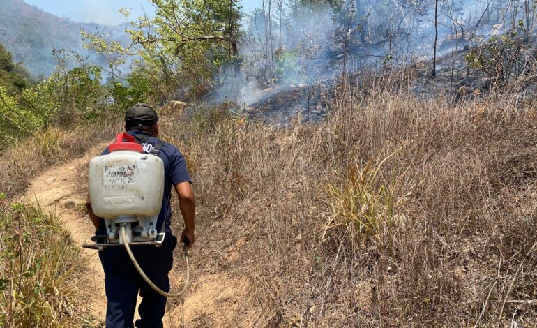
[[(168, 236), (170, 234), (167, 234)], [(161, 290), (169, 292), (168, 273), (173, 265), (173, 250), (176, 237), (167, 238), (162, 247), (131, 246), (133, 254), (145, 274)], [(125, 248), (108, 247), (99, 252), (100, 262), (105, 269), (105, 290), (107, 297), (106, 327), (162, 327), (166, 307), (166, 297), (159, 295), (144, 281), (134, 267)], [(136, 299), (140, 319), (133, 325)]]

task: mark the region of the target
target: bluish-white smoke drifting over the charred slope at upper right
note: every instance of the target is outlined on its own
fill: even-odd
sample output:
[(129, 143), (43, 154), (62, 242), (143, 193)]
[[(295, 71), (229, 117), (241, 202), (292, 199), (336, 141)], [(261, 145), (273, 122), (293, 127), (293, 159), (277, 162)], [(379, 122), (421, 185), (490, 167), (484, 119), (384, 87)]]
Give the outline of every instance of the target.
[[(268, 2), (264, 9), (244, 18), (241, 73), (223, 68), (218, 74), (220, 87), (206, 98), (209, 103), (233, 100), (243, 107), (257, 106), (291, 89), (308, 89), (309, 93), (344, 71), (393, 68), (432, 59), (434, 1), (288, 4), (282, 8), (281, 24), (278, 2), (272, 1), (271, 17)], [(438, 55), (506, 33), (524, 13), (522, 1), (514, 2), (439, 1)], [(303, 108), (304, 104), (297, 106)]]

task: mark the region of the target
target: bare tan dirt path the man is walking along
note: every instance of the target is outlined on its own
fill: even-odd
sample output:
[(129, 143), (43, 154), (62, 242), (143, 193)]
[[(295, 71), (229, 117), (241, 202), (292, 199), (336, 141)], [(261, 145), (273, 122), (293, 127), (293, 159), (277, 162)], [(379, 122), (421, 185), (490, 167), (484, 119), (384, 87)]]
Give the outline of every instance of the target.
[[(80, 188), (81, 179), (85, 177), (89, 160), (100, 153), (105, 144), (93, 147), (85, 156), (76, 158), (66, 165), (54, 167), (43, 172), (31, 181), (24, 198), (27, 202), (39, 202), (55, 212), (63, 221), (73, 240), (79, 246), (90, 243), (94, 228), (84, 214), (86, 186)], [(98, 252), (82, 248), (86, 258), (86, 279), (89, 285), (82, 289), (87, 299), (87, 312), (91, 315), (94, 327), (104, 327), (106, 297), (104, 289), (104, 272), (100, 265)], [(243, 278), (237, 278), (226, 272), (201, 273), (195, 260), (195, 251), (191, 254), (192, 283), (187, 291), (184, 303), (180, 300), (168, 301), (167, 315), (163, 319), (165, 327), (255, 327), (259, 312), (252, 311), (241, 303), (245, 286)], [(174, 269), (170, 274), (172, 291), (183, 283), (183, 259), (181, 269)], [(178, 267), (176, 264), (174, 267)], [(139, 304), (140, 298), (138, 298)], [(238, 317), (239, 316), (239, 317)], [(139, 318), (136, 311), (135, 319)], [(239, 320), (237, 318), (240, 318)]]

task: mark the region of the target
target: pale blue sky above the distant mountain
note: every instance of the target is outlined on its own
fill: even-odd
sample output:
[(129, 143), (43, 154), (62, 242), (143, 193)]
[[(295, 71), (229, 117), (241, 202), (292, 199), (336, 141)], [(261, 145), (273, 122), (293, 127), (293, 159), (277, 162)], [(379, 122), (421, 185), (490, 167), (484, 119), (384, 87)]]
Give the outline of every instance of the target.
[[(1, 1), (1, 0), (0, 0)], [(242, 0), (245, 11), (259, 7), (262, 0)], [(52, 13), (59, 17), (69, 17), (75, 22), (96, 22), (101, 24), (119, 24), (125, 18), (118, 13), (119, 8), (130, 8), (133, 17), (152, 13), (153, 6), (149, 0), (24, 0), (24, 2)]]

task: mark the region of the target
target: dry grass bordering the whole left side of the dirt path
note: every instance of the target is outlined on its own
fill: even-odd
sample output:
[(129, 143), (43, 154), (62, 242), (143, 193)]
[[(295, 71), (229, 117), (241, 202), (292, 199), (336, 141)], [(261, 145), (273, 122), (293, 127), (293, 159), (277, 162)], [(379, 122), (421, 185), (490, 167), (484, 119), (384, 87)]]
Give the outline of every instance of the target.
[[(0, 327), (93, 327), (81, 299), (82, 258), (58, 218), (14, 202), (31, 179), (109, 140), (114, 114), (70, 130), (50, 128), (0, 158)], [(74, 125), (74, 124), (73, 124)], [(11, 203), (9, 203), (11, 202)]]

